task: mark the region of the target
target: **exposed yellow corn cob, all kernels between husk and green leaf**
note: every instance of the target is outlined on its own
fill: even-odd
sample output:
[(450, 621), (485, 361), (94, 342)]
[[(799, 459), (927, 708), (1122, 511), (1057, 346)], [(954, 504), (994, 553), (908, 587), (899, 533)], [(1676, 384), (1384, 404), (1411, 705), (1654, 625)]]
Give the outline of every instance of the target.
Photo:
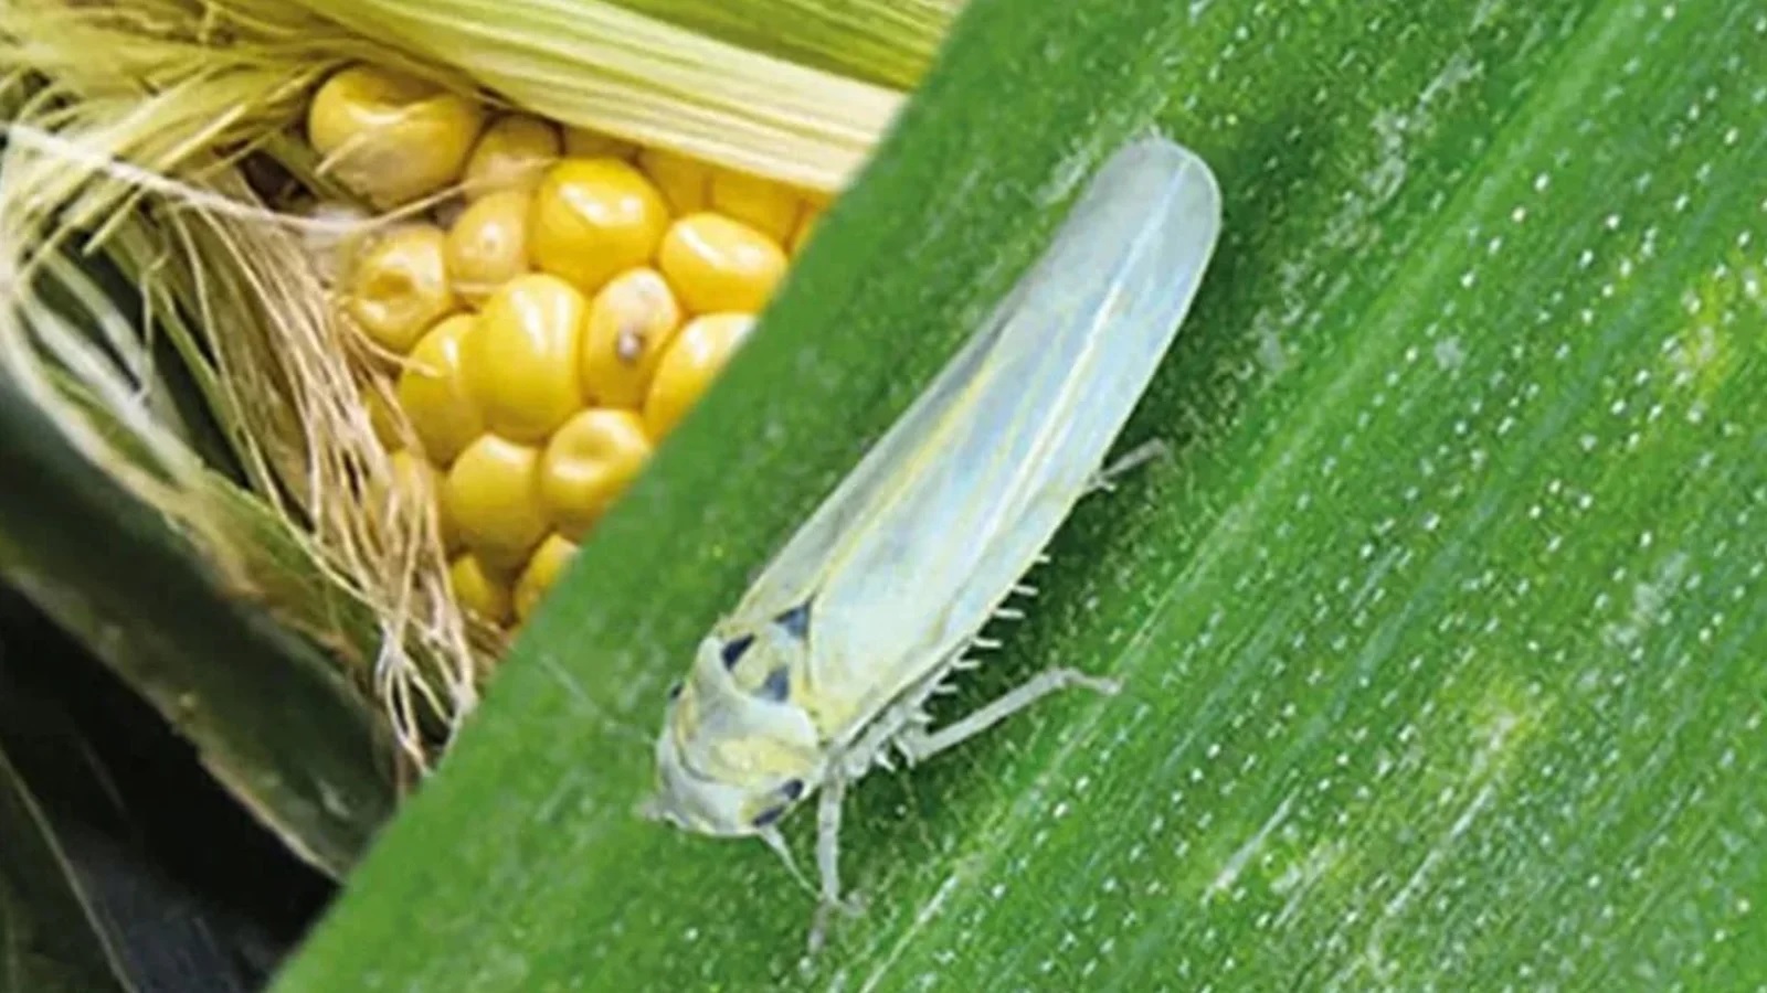
[[(343, 313), (396, 369), (456, 601), (525, 620), (747, 336), (825, 200), (355, 65), (307, 136), (380, 210)], [(398, 461), (403, 459), (403, 461)], [(415, 468), (421, 465), (422, 468)]]

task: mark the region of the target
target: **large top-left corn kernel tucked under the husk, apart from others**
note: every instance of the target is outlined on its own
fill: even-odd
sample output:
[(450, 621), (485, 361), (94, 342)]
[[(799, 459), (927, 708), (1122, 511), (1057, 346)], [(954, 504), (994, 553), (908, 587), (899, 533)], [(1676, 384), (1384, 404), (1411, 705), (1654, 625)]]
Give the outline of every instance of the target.
[(375, 207), (403, 207), (459, 178), (484, 111), (415, 76), (353, 65), (307, 106), (307, 141)]

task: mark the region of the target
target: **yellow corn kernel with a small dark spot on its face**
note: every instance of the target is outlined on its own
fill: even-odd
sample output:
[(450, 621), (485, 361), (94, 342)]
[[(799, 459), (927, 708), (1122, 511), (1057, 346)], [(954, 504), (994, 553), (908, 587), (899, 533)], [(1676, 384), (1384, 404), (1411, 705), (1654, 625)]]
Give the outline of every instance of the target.
[(656, 269), (627, 269), (608, 281), (588, 306), (583, 334), (583, 392), (590, 403), (643, 405), (680, 318), (680, 304)]

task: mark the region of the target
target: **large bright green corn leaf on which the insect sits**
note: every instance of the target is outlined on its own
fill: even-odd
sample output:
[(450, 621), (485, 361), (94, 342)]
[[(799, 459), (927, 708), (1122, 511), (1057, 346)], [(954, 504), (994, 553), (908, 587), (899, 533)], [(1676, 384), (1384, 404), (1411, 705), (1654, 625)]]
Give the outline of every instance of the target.
[[(1758, 4), (977, 0), (277, 988), (1758, 986), (1762, 51)], [(862, 783), (804, 963), (765, 848), (633, 815), (664, 687), (1150, 124), (1226, 194), (1126, 433), (1173, 458), (952, 707), (1127, 689)]]

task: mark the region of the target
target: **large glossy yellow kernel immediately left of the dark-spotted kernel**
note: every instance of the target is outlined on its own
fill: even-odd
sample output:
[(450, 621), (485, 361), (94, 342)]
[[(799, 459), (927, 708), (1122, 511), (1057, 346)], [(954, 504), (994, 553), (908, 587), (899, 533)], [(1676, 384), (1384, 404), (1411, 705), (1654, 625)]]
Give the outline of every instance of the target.
[(578, 362), (588, 300), (569, 283), (530, 272), (505, 283), (479, 313), (461, 368), (486, 424), (539, 442), (583, 406)]

